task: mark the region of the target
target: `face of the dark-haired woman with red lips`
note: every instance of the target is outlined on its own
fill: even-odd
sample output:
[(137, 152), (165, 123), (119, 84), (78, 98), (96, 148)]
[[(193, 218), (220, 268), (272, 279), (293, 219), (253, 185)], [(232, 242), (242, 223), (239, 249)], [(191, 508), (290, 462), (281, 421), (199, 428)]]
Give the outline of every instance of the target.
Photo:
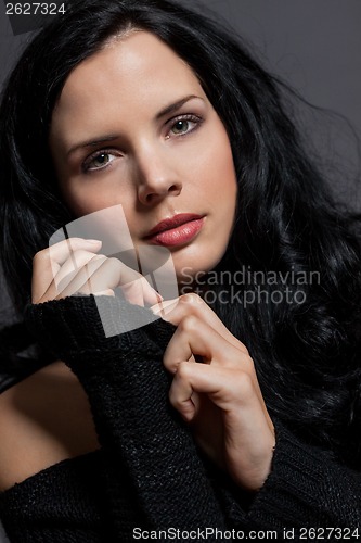
[(169, 249), (180, 281), (224, 254), (236, 203), (229, 138), (192, 70), (152, 34), (114, 39), (70, 73), (50, 147), (73, 213), (121, 204), (133, 244)]

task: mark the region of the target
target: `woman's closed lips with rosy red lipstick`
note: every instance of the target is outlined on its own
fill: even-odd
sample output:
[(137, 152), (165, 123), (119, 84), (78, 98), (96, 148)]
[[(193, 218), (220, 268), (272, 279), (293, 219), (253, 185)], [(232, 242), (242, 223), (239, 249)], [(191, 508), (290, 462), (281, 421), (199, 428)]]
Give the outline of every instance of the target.
[(156, 245), (183, 245), (196, 237), (203, 227), (203, 223), (204, 216), (202, 215), (181, 213), (158, 223), (144, 239)]

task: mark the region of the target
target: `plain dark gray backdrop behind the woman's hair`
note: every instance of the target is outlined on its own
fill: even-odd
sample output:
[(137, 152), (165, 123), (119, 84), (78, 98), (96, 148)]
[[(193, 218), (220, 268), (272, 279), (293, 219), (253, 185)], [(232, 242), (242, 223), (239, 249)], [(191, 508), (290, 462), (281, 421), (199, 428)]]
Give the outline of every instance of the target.
[[(205, 5), (248, 39), (250, 50), (272, 73), (312, 104), (347, 117), (361, 135), (361, 0), (208, 0)], [(30, 37), (31, 33), (13, 36), (0, 1), (0, 84)], [(317, 149), (323, 157), (337, 198), (360, 210), (351, 128), (337, 116), (305, 108), (298, 118), (311, 151)], [(7, 304), (3, 293), (2, 308)]]

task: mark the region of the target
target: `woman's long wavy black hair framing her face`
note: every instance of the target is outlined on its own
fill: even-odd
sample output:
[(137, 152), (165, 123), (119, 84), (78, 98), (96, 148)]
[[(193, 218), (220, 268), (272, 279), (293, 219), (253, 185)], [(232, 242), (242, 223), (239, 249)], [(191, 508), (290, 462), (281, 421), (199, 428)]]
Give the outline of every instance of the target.
[[(344, 447), (344, 455), (352, 451), (354, 464), (361, 457), (358, 223), (337, 209), (308, 160), (278, 81), (229, 31), (180, 3), (74, 2), (38, 34), (13, 71), (0, 112), (0, 220), (16, 307), (22, 312), (29, 295), (34, 254), (70, 218), (48, 148), (53, 108), (69, 72), (129, 28), (155, 34), (193, 68), (230, 137), (237, 218), (214, 273), (229, 272), (228, 291), (236, 287), (243, 298), (221, 303), (215, 296), (215, 310), (248, 346), (271, 414), (314, 443)], [(242, 285), (234, 280), (241, 269), (250, 274)], [(257, 281), (249, 279), (255, 273), (273, 274), (262, 290), (278, 292), (276, 301), (263, 294), (242, 303), (246, 291), (257, 295)], [(310, 273), (319, 280), (297, 281)], [(285, 298), (295, 283), (301, 303)]]

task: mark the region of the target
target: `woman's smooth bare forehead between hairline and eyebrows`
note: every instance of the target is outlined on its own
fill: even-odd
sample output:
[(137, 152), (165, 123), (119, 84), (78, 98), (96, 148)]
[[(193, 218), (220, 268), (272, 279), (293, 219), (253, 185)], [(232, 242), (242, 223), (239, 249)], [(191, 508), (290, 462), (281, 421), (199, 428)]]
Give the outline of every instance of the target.
[(205, 96), (191, 67), (157, 37), (133, 31), (112, 40), (70, 73), (52, 124), (60, 128), (89, 115), (101, 121), (105, 109), (114, 115), (134, 108), (151, 114), (186, 93)]

